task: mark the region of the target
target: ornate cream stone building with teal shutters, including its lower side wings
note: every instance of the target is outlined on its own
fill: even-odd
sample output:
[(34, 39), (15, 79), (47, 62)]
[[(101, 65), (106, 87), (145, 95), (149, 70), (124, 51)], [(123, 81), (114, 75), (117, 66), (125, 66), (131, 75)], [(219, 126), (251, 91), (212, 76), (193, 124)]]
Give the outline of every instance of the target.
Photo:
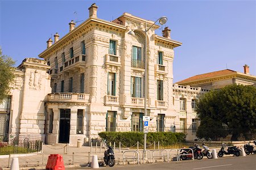
[[(149, 131), (196, 138), (196, 100), (207, 90), (173, 84), (174, 49), (181, 42), (171, 39), (168, 27), (156, 35), (159, 25), (128, 13), (112, 22), (99, 19), (97, 8), (90, 6), (89, 18), (79, 26), (71, 21), (61, 39), (58, 33), (54, 43), (49, 39), (39, 54), (44, 61), (24, 59), (0, 109), (2, 133), (37, 134), (48, 144), (76, 145), (80, 139), (86, 145), (101, 131), (142, 131), (146, 87)], [(147, 36), (146, 22), (152, 25)]]

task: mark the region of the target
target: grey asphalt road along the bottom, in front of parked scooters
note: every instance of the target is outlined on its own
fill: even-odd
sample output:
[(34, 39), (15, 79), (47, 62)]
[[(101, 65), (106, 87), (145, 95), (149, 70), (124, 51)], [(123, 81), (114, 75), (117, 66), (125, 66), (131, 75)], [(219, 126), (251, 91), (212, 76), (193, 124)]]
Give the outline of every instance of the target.
[[(67, 170), (81, 170), (87, 168), (66, 168)], [(142, 165), (115, 165), (114, 167), (101, 167), (100, 169), (139, 169), (139, 170), (150, 170), (150, 169), (168, 169), (168, 170), (179, 170), (179, 169), (191, 169), (191, 170), (251, 170), (256, 169), (256, 155), (249, 155), (246, 157), (226, 157), (218, 159), (203, 159), (203, 160), (184, 160), (181, 162), (171, 163), (154, 163), (154, 164), (142, 164)]]

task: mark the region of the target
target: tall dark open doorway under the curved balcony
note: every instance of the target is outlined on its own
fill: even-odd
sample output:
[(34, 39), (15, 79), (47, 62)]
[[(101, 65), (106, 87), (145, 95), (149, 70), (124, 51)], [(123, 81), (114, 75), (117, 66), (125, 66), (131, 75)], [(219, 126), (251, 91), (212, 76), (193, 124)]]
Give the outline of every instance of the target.
[(59, 143), (69, 143), (70, 109), (60, 109)]

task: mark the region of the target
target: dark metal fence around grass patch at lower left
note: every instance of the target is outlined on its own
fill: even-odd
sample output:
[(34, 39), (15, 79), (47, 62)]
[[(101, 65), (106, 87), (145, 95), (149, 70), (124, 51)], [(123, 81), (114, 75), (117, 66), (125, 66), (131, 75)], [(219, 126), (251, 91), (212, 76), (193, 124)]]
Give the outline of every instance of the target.
[(45, 135), (0, 135), (0, 155), (24, 154), (42, 150)]

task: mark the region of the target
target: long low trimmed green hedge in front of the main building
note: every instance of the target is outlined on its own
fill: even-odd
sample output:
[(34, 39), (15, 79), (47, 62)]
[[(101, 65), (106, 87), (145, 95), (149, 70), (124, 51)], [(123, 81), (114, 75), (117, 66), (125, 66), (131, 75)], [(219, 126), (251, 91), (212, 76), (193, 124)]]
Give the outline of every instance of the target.
[[(144, 142), (144, 133), (136, 131), (102, 131), (98, 135), (108, 142), (121, 142), (125, 146), (133, 146), (137, 141), (139, 143)], [(185, 142), (185, 137), (186, 135), (184, 133), (149, 132), (147, 133), (147, 145), (154, 143), (154, 141), (159, 141), (162, 146), (168, 146), (178, 142)]]

